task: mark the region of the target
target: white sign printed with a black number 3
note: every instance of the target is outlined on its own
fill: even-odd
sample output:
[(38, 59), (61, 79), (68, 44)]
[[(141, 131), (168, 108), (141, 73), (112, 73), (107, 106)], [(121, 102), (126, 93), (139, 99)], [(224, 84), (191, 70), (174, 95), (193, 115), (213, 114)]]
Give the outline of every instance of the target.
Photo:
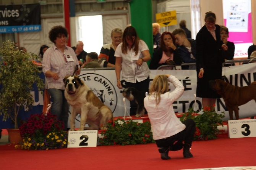
[(229, 138), (256, 137), (256, 119), (228, 120)]

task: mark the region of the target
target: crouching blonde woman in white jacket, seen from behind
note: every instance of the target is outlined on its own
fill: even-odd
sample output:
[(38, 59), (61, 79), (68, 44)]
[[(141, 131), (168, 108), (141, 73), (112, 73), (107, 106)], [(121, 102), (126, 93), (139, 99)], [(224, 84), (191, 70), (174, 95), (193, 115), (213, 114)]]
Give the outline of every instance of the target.
[[(168, 83), (173, 83), (175, 90), (169, 91)], [(184, 91), (183, 85), (173, 75), (157, 75), (149, 89), (149, 95), (144, 98), (144, 106), (149, 117), (153, 139), (161, 154), (161, 159), (171, 159), (169, 151), (178, 151), (183, 148), (183, 157), (190, 158), (195, 122), (187, 119), (183, 123), (175, 115), (172, 103)], [(184, 141), (184, 144), (183, 144)]]

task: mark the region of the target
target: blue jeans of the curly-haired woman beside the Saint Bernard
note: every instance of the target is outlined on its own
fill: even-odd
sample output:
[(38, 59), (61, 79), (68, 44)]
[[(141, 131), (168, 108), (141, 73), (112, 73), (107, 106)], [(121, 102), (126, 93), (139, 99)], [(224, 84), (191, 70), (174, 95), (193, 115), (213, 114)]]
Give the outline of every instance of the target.
[(47, 90), (49, 91), (52, 100), (51, 113), (57, 115), (58, 120), (64, 122), (64, 130), (67, 130), (69, 104), (64, 96), (65, 90), (57, 88), (49, 88)]

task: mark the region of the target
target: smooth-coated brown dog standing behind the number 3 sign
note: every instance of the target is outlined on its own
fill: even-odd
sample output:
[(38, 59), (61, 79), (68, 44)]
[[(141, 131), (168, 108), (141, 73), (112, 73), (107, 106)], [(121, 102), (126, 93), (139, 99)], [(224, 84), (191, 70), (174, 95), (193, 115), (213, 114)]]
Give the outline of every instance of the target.
[(217, 79), (210, 80), (209, 85), (224, 99), (230, 120), (233, 120), (233, 111), (235, 111), (236, 120), (239, 119), (238, 106), (241, 106), (252, 99), (256, 101), (256, 81), (252, 82), (249, 86), (238, 87)]

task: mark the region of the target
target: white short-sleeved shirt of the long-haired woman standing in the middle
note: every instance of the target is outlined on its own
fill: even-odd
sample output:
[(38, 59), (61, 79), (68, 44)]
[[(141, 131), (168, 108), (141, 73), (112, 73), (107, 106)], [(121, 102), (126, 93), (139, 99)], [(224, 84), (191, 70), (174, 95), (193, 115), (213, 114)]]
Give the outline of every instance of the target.
[(138, 55), (135, 55), (133, 48), (131, 50), (127, 47), (127, 54), (122, 53), (123, 43), (120, 43), (115, 50), (115, 57), (122, 57), (122, 78), (126, 82), (136, 83), (141, 82), (149, 77), (149, 67), (146, 62), (141, 66), (137, 66), (136, 61), (143, 58), (142, 51), (148, 50), (147, 44), (143, 40), (139, 40)]

